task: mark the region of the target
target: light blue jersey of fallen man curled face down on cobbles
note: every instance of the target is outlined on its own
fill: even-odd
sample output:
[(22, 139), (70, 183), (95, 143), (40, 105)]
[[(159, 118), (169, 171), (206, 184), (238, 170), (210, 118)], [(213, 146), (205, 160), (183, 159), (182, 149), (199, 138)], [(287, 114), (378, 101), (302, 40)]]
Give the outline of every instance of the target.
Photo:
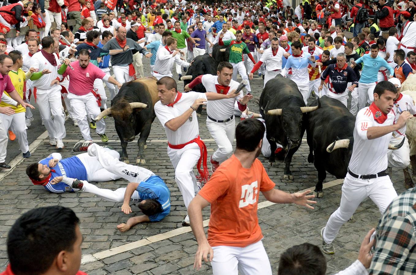
[(137, 186), (140, 200), (156, 200), (163, 208), (162, 212), (149, 216), (150, 221), (160, 221), (171, 212), (171, 192), (159, 176), (151, 176)]

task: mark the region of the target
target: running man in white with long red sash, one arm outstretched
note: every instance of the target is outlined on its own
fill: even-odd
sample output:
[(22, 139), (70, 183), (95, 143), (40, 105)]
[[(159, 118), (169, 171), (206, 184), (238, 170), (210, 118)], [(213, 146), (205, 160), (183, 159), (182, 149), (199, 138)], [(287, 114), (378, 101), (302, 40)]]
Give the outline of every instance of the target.
[[(227, 95), (216, 92), (178, 92), (176, 81), (165, 76), (157, 81), (158, 97), (154, 110), (157, 118), (165, 128), (168, 138), (168, 156), (175, 169), (175, 181), (183, 196), (185, 207), (201, 189), (193, 173), (198, 163), (198, 179), (206, 182), (209, 178), (207, 167), (206, 146), (199, 137), (196, 109), (205, 105), (207, 100), (233, 98), (238, 94)], [(203, 165), (203, 170), (201, 169)], [(189, 217), (182, 221), (183, 226), (189, 226)]]

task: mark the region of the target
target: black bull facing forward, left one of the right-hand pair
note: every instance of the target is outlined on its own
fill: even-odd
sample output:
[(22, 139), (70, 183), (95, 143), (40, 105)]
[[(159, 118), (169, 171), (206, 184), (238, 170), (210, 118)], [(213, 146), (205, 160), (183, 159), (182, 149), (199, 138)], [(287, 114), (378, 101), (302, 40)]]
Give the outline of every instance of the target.
[[(265, 119), (266, 137), (270, 143), (269, 165), (275, 162), (275, 156), (285, 162), (285, 179), (293, 179), (290, 171), (292, 156), (299, 148), (305, 133), (305, 114), (319, 108), (305, 107), (302, 94), (295, 82), (277, 75), (269, 80), (260, 95), (260, 114)], [(276, 143), (283, 146), (275, 154)]]

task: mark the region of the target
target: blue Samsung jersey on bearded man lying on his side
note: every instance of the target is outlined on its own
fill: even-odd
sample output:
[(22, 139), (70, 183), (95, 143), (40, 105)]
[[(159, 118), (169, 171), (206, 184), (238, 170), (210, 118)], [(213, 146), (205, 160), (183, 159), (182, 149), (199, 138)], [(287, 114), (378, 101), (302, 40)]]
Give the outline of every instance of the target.
[[(39, 163), (46, 164), (49, 167), (48, 163), (52, 158), (54, 157), (51, 154), (47, 158), (39, 161)], [(55, 172), (51, 171), (51, 178), (49, 183), (44, 185), (44, 187), (46, 190), (52, 193), (74, 192), (74, 190), (66, 183), (60, 182), (57, 184), (50, 184), (50, 181), (53, 180), (54, 177), (63, 176), (67, 178), (76, 178), (78, 180), (88, 180), (87, 170), (85, 170), (84, 164), (82, 164), (81, 160), (76, 156), (65, 158), (59, 161), (57, 165), (51, 169), (53, 169)]]

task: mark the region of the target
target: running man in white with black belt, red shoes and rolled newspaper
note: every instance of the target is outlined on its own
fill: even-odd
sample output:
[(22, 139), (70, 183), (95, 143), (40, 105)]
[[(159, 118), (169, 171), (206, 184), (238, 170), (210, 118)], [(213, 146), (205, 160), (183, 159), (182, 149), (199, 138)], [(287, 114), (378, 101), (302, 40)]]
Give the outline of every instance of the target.
[[(202, 83), (207, 91), (216, 91), (222, 95), (233, 94), (240, 84), (232, 80), (232, 77), (233, 65), (229, 62), (220, 62), (217, 75), (200, 75), (192, 80), (184, 90), (190, 91), (195, 85)], [(233, 151), (235, 102), (238, 104), (238, 109), (243, 112), (247, 108), (247, 102), (252, 98), (252, 95), (244, 95), (241, 90), (236, 97), (207, 102), (207, 128), (218, 145), (218, 149), (210, 158), (212, 173)]]

